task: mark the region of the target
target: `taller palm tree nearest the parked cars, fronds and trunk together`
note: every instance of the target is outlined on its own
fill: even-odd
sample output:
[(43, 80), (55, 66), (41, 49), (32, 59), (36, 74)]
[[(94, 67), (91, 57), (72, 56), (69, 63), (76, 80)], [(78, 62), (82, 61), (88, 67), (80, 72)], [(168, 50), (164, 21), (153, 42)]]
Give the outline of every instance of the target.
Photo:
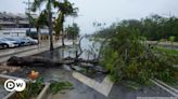
[[(37, 9), (40, 9), (43, 3), (46, 3), (46, 9), (43, 11), (47, 11), (48, 13), (48, 27), (49, 27), (49, 36), (50, 36), (50, 51), (53, 51), (53, 42), (52, 42), (52, 8), (54, 5), (54, 2), (58, 2), (55, 0), (35, 0), (33, 2), (31, 11), (36, 12)], [(42, 11), (42, 12), (43, 12)]]

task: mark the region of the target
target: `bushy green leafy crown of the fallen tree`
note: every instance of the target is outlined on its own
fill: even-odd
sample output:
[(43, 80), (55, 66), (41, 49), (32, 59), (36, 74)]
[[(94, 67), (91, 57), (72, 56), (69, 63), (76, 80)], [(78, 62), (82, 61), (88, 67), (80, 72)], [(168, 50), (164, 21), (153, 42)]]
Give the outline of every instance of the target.
[[(150, 79), (171, 83), (178, 79), (176, 57), (144, 42), (137, 30), (117, 28), (117, 33), (104, 45), (101, 62), (113, 81), (134, 81), (147, 84)], [(178, 59), (178, 58), (177, 58)]]

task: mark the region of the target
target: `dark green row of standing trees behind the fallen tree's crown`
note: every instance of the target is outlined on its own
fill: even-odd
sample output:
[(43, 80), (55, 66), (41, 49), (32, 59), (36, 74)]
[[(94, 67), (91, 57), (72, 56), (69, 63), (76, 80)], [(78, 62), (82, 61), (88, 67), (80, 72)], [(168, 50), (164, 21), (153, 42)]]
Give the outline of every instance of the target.
[(140, 34), (147, 40), (156, 41), (161, 39), (168, 40), (169, 37), (175, 37), (178, 41), (178, 18), (175, 16), (163, 17), (160, 15), (152, 15), (140, 20), (127, 19), (113, 24), (111, 27), (98, 31), (101, 37), (112, 36), (116, 28), (137, 29)]

